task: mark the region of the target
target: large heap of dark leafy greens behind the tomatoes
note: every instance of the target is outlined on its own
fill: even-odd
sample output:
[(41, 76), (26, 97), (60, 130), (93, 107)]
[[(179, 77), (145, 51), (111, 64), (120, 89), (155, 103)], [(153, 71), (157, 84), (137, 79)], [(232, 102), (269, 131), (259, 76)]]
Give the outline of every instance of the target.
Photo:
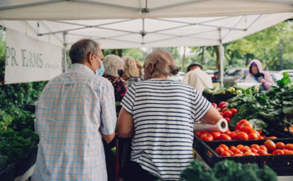
[(277, 85), (266, 94), (246, 90), (244, 94), (227, 100), (230, 108), (238, 109), (238, 113), (230, 120), (229, 125), (235, 127), (241, 119), (253, 120), (253, 123), (257, 123), (253, 125), (255, 129), (263, 129), (264, 132), (270, 133), (273, 129), (280, 131), (288, 124), (292, 124), (293, 85), (289, 75), (284, 73), (284, 77), (277, 81)]

